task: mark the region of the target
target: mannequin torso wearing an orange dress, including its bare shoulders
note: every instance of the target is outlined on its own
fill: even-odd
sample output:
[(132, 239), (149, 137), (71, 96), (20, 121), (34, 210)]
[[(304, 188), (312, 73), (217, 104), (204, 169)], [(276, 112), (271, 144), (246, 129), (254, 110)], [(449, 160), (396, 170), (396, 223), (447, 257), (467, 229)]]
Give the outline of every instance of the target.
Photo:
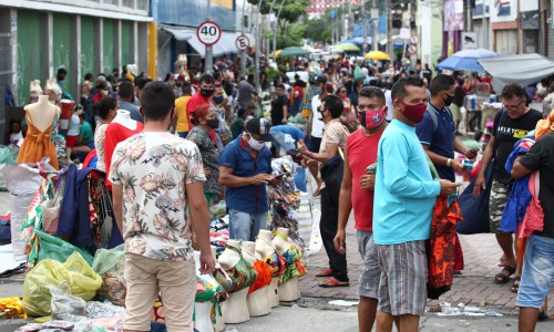
[(39, 102), (27, 105), (25, 120), (29, 126), (18, 155), (18, 164), (38, 163), (42, 157), (50, 158), (50, 165), (59, 169), (58, 153), (50, 138), (60, 110), (49, 103), (48, 96), (39, 96)]

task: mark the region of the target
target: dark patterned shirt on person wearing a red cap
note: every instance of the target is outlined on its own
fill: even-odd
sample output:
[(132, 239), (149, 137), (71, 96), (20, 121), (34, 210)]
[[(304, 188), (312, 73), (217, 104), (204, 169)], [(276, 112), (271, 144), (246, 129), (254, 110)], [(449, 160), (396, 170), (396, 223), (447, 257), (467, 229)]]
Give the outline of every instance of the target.
[(222, 188), (219, 186), (219, 154), (214, 141), (209, 137), (208, 132), (202, 126), (194, 126), (186, 139), (189, 139), (198, 146), (202, 155), (204, 168), (209, 168), (212, 175), (204, 183), (204, 193), (219, 195)]

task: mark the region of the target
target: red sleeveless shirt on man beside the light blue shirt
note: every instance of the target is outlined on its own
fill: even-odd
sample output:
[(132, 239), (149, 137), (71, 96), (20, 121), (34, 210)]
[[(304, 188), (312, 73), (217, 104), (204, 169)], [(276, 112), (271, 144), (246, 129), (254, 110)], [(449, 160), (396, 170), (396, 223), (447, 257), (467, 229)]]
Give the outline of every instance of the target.
[(346, 151), (352, 173), (353, 220), (358, 230), (373, 229), (373, 191), (361, 188), (360, 177), (367, 174), (366, 167), (377, 160), (377, 146), (381, 134), (366, 136), (363, 128), (360, 128), (347, 139)]

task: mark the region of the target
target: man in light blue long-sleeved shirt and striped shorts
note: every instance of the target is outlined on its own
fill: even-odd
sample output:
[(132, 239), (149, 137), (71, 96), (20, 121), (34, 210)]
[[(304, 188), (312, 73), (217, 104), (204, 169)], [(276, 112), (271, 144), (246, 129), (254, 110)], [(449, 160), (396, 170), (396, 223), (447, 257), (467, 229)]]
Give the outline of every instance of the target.
[(408, 76), (391, 92), (394, 120), (379, 141), (375, 185), (373, 235), (381, 269), (377, 328), (391, 331), (393, 319), (418, 331), (427, 304), (425, 240), (437, 196), (458, 184), (434, 180), (416, 134), (427, 110), (423, 80)]

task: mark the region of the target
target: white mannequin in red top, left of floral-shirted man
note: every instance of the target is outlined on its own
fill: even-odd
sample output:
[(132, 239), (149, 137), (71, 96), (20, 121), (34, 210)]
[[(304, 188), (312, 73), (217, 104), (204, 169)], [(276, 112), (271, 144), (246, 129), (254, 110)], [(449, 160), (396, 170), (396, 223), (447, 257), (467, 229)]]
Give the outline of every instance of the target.
[[(131, 118), (129, 111), (120, 110), (115, 118), (107, 125), (104, 138), (104, 159), (105, 173), (110, 174), (110, 166), (112, 164), (113, 151), (117, 143), (127, 139), (129, 137), (138, 134), (143, 131), (144, 125)], [(112, 190), (112, 183), (106, 176), (106, 187)]]

